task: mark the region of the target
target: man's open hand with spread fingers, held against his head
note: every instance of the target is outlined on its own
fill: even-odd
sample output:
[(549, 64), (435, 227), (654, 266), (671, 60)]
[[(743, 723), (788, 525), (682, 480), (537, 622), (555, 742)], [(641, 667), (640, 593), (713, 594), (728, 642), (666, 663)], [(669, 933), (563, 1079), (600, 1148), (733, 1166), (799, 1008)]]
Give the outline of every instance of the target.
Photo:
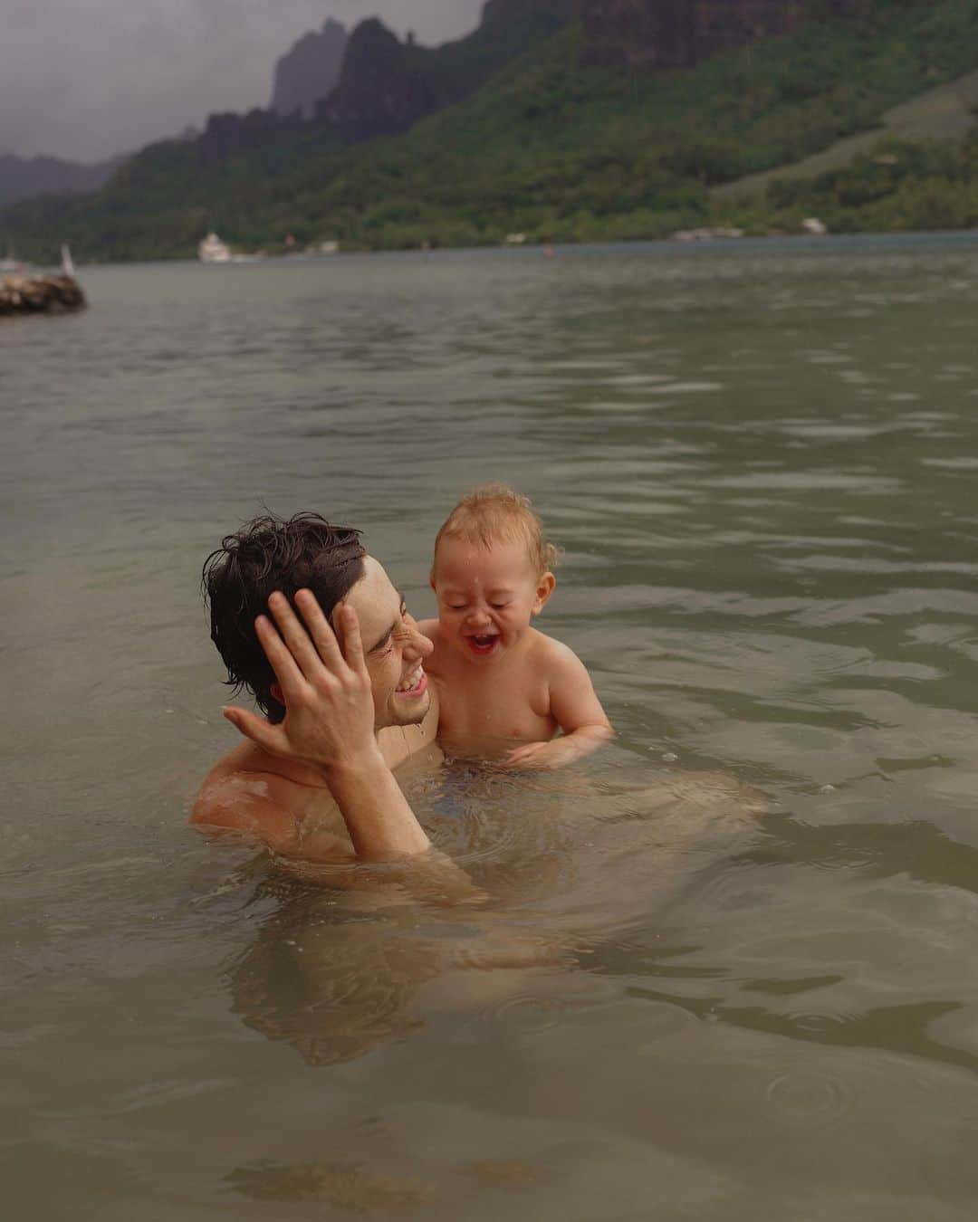
[(296, 594), (306, 627), (284, 594), (273, 594), (268, 602), (275, 623), (259, 616), (254, 629), (279, 681), (285, 720), (273, 726), (233, 706), (225, 709), (224, 716), (273, 755), (306, 760), (326, 772), (378, 755), (370, 678), (356, 611), (344, 604), (336, 609), (341, 649), (311, 590)]

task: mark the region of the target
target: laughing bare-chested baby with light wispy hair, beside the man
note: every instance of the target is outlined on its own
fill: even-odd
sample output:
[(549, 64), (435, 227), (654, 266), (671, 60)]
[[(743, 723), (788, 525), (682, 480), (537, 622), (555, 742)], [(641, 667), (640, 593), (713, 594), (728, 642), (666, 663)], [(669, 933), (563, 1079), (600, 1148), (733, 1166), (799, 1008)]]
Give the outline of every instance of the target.
[(559, 767), (614, 736), (577, 655), (529, 626), (554, 593), (555, 558), (527, 497), (504, 484), (477, 488), (438, 532), (438, 620), (419, 628), (435, 646), (424, 668), (446, 745), (523, 739), (506, 764)]

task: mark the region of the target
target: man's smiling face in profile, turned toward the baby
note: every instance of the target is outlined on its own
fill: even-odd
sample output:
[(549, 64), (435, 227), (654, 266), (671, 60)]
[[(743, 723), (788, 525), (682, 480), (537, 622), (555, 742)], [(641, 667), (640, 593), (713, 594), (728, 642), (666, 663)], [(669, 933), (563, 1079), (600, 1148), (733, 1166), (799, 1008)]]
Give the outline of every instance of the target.
[(374, 694), (374, 728), (414, 726), (432, 703), (422, 662), (434, 646), (418, 632), (383, 567), (373, 556), (364, 556), (363, 565), (363, 578), (344, 601), (359, 620)]

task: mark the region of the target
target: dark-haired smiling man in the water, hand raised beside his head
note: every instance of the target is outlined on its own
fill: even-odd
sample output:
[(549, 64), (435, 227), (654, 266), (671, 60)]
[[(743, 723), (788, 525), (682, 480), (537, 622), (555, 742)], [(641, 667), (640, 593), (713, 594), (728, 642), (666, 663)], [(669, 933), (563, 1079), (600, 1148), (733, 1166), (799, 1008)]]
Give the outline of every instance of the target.
[(391, 770), (434, 749), (432, 643), (359, 532), (256, 518), (208, 557), (204, 589), (229, 682), (267, 717), (224, 710), (248, 742), (211, 769), (191, 822), (302, 860), (427, 852)]

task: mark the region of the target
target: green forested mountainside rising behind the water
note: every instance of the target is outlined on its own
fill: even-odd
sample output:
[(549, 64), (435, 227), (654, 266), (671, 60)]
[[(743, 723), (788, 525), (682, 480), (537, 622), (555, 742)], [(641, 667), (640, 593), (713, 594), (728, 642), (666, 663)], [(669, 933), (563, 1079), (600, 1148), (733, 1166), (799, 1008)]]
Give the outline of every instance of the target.
[[(513, 231), (555, 241), (703, 224), (765, 232), (812, 214), (839, 229), (978, 224), (971, 136), (913, 144), (912, 155), (870, 150), (868, 165), (774, 178), (749, 198), (716, 191), (883, 134), (892, 108), (978, 68), (978, 0), (540, 2), (491, 0), (480, 38), (435, 51), (386, 40), (412, 89), (472, 86), (401, 134), (351, 143), (334, 120), (265, 131), (222, 155), (164, 142), (99, 192), (7, 208), (0, 246), (44, 259), (70, 241), (82, 259), (139, 259), (191, 255), (210, 227), (273, 251), (287, 233), (392, 248), (496, 243)], [(328, 106), (342, 111), (342, 78)]]

